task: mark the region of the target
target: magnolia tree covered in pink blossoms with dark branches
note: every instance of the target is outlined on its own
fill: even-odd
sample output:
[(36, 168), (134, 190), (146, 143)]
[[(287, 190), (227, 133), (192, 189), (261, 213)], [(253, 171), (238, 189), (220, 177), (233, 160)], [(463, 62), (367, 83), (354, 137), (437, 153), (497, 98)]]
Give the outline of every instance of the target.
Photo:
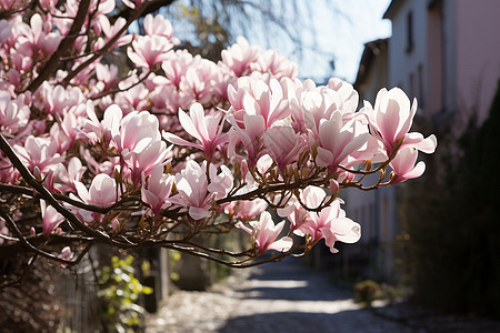
[[(0, 0), (0, 256), (70, 266), (104, 243), (243, 268), (321, 239), (337, 252), (361, 236), (342, 189), (424, 171), (437, 141), (410, 132), (400, 89), (359, 109), (351, 84), (301, 81), (243, 38), (216, 63), (177, 49), (161, 16), (128, 33), (154, 1), (123, 2), (132, 13), (111, 22), (114, 1)], [(233, 229), (249, 249), (198, 241)]]

